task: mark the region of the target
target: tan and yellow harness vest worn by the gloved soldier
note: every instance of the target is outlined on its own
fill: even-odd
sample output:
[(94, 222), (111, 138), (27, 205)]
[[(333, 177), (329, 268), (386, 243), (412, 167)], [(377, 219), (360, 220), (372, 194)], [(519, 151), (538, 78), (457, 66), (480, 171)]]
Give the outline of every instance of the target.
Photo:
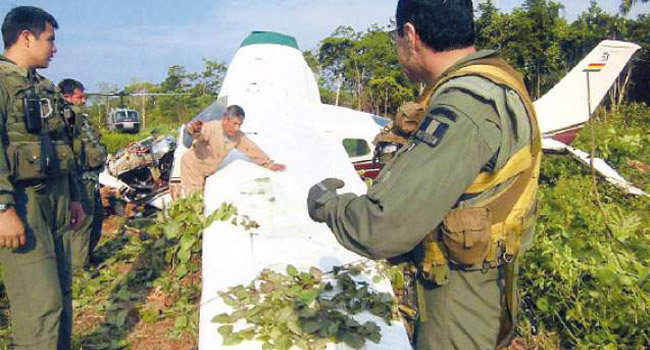
[[(513, 155), (506, 154), (509, 159), (498, 170), (478, 175), (461, 198), (493, 191), (491, 195), (470, 205), (459, 200), (454, 209), (447, 213), (439, 229), (421, 243), (424, 254), (416, 265), (422, 279), (439, 285), (447, 283), (450, 264), (484, 270), (503, 268), (504, 310), (507, 311), (502, 316), (499, 335), (499, 339), (503, 340), (513, 328), (518, 309), (513, 262), (521, 250), (523, 235), (534, 230), (537, 218), (541, 135), (535, 109), (521, 76), (506, 62), (495, 57), (472, 60), (453, 67), (425, 91), (419, 103), (428, 109), (438, 89), (451, 79), (466, 76), (479, 76), (517, 93), (528, 115), (530, 144)], [(509, 150), (500, 149), (500, 152), (504, 151)]]

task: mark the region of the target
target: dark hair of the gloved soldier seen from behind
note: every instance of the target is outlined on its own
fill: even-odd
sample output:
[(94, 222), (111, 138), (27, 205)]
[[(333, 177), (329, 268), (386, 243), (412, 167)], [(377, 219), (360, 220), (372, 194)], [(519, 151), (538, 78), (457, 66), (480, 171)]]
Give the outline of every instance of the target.
[(471, 0), (399, 0), (395, 13), (397, 34), (411, 23), (420, 39), (435, 51), (462, 49), (474, 44), (474, 8)]

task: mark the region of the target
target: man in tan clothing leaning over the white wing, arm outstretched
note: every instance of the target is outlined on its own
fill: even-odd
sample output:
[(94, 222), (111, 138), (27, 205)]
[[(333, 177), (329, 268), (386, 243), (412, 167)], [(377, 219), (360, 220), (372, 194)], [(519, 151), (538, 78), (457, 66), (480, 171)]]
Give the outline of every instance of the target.
[(244, 117), (244, 110), (237, 105), (232, 105), (226, 109), (221, 120), (205, 123), (196, 120), (187, 125), (194, 142), (181, 159), (183, 195), (203, 191), (205, 179), (217, 171), (234, 148), (260, 166), (273, 171), (286, 169), (285, 165), (274, 163), (240, 130)]

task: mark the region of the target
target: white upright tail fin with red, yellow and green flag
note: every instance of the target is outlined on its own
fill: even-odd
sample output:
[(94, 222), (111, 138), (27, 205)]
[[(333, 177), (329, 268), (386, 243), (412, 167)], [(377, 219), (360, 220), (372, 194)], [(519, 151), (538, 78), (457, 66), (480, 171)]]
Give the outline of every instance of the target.
[[(640, 46), (624, 41), (601, 41), (548, 93), (535, 101), (543, 134), (584, 124)], [(587, 75), (591, 110), (587, 104)]]

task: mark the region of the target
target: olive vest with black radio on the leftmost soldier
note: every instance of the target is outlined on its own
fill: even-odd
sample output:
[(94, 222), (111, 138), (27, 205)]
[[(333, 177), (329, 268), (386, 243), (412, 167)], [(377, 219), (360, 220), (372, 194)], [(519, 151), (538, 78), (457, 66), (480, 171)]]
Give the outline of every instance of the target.
[[(43, 180), (74, 171), (69, 128), (63, 116), (63, 96), (54, 84), (35, 72), (21, 69), (0, 57), (0, 82), (9, 94), (4, 130), (11, 178), (15, 183)], [(41, 107), (41, 130), (26, 127), (25, 98), (36, 97)], [(45, 140), (45, 141), (44, 141)]]

